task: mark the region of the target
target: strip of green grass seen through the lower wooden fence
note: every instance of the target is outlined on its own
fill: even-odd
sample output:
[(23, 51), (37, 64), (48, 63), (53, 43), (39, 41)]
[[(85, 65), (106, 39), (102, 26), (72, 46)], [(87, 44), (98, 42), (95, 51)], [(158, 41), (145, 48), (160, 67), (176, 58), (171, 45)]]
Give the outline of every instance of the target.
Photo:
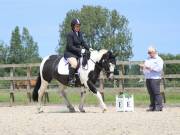
[[(135, 105), (148, 105), (149, 104), (149, 95), (144, 91), (129, 91), (129, 94), (134, 95)], [(115, 96), (118, 94), (118, 91), (106, 89), (105, 94), (105, 103), (108, 105), (115, 105)], [(167, 105), (180, 105), (180, 91), (166, 91), (166, 100)], [(67, 90), (67, 96), (73, 104), (79, 104), (80, 102), (80, 91), (78, 89)], [(49, 104), (64, 104), (62, 97), (59, 96), (57, 91), (49, 92)], [(9, 92), (0, 91), (0, 103), (9, 102)], [(27, 93), (24, 91), (15, 92), (15, 104), (28, 104)], [(87, 91), (85, 104), (88, 105), (98, 105), (99, 102), (91, 92)]]

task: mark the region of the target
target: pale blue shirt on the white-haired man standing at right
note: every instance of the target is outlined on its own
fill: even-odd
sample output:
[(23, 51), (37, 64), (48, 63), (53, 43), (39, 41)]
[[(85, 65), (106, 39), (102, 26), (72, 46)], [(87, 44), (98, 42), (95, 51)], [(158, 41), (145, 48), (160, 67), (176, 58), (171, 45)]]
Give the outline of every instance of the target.
[(161, 79), (163, 72), (163, 60), (158, 55), (155, 58), (149, 57), (145, 60), (144, 65), (150, 69), (143, 69), (146, 79)]

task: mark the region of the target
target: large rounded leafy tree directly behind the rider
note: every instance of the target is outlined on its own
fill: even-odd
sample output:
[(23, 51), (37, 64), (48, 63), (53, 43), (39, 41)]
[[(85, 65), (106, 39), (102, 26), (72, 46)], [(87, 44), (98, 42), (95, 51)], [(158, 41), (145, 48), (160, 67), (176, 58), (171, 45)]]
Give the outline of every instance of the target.
[(106, 48), (118, 54), (119, 60), (132, 57), (132, 36), (128, 29), (128, 20), (116, 10), (109, 11), (100, 6), (83, 6), (81, 10), (70, 10), (59, 26), (60, 40), (58, 52), (66, 46), (66, 34), (71, 30), (73, 18), (79, 18), (81, 29), (87, 43), (93, 49)]

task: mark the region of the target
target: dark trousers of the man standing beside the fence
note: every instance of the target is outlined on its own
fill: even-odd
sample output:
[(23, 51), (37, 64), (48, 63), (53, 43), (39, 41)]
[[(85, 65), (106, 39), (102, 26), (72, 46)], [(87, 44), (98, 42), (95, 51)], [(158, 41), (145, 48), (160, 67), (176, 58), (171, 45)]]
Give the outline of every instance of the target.
[(150, 95), (150, 107), (162, 109), (162, 96), (160, 94), (161, 79), (146, 79), (146, 86)]

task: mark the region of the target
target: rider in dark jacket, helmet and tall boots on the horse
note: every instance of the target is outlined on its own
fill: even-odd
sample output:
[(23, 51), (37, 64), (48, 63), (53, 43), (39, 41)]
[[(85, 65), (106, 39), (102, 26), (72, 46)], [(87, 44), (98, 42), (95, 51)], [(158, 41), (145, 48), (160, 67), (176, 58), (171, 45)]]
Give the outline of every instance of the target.
[(72, 31), (67, 34), (67, 45), (64, 53), (64, 57), (69, 62), (69, 86), (75, 84), (74, 74), (77, 68), (77, 60), (85, 53), (85, 49), (89, 50), (89, 46), (85, 43), (80, 32), (81, 23), (78, 19), (73, 19), (71, 21)]

